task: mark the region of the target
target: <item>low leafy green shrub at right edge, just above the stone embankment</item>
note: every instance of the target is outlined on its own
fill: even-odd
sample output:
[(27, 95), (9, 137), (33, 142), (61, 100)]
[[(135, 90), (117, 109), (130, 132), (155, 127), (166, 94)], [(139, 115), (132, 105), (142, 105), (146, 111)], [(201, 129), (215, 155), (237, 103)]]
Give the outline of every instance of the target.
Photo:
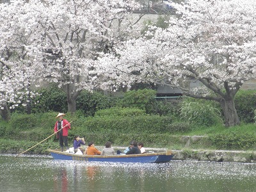
[(248, 149), (255, 147), (256, 136), (248, 133), (228, 132), (212, 135), (209, 137), (209, 140), (218, 149)]

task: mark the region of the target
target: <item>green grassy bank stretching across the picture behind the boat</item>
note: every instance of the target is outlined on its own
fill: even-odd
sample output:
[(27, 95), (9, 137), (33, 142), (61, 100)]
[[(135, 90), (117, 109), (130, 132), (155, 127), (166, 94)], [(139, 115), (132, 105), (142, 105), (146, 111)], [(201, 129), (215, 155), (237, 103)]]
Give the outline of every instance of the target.
[[(0, 152), (17, 154), (44, 140), (53, 133), (56, 122), (54, 116), (56, 113), (31, 116), (16, 114), (12, 116), (10, 122), (0, 121)], [(113, 147), (126, 147), (131, 140), (136, 140), (142, 141), (145, 147), (173, 150), (254, 150), (256, 147), (256, 132), (253, 124), (242, 124), (229, 128), (223, 125), (187, 127), (186, 124), (174, 122), (164, 127), (157, 122), (157, 119), (166, 124), (168, 118), (141, 116), (141, 121), (145, 122), (141, 122), (138, 125), (140, 129), (138, 129), (134, 126), (139, 123), (137, 122), (135, 125), (129, 123), (129, 118), (122, 118), (122, 124), (118, 118), (109, 117), (97, 117), (95, 118), (97, 120), (94, 121), (95, 119), (92, 117), (84, 118), (79, 115), (67, 114), (65, 118), (72, 121), (72, 129), (68, 133), (70, 147), (76, 134), (86, 138), (86, 143), (94, 141), (97, 146), (103, 146), (106, 141), (111, 141)], [(140, 119), (140, 116), (136, 118)], [(125, 124), (125, 120), (128, 122), (127, 124)], [(99, 121), (101, 122), (99, 123)], [(156, 124), (157, 129), (154, 129), (154, 124)], [(143, 126), (145, 127), (143, 128)], [(161, 129), (161, 127), (164, 128)], [(27, 153), (45, 154), (47, 148), (58, 147), (58, 140), (52, 136)]]

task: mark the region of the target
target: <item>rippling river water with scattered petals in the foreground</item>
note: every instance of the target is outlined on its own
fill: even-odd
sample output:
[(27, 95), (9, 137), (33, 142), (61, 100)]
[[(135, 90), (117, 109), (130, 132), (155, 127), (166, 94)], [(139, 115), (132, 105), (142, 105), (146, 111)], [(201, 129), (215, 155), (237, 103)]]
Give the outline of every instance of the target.
[(255, 163), (57, 161), (0, 154), (0, 191), (256, 191)]

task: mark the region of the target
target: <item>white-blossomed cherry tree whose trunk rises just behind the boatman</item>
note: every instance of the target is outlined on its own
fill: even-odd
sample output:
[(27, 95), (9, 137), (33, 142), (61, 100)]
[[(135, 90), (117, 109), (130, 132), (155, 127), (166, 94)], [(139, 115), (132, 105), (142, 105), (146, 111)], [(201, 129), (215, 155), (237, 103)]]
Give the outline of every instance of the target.
[[(99, 84), (93, 68), (100, 52), (111, 51), (117, 42), (137, 33), (134, 24), (143, 15), (134, 20), (131, 13), (139, 8), (132, 0), (15, 0), (0, 4), (1, 69), (9, 70), (0, 78), (2, 109), (28, 83), (39, 86), (47, 81), (65, 90), (68, 111), (76, 111), (81, 90), (93, 90)], [(21, 71), (23, 78), (17, 76)]]

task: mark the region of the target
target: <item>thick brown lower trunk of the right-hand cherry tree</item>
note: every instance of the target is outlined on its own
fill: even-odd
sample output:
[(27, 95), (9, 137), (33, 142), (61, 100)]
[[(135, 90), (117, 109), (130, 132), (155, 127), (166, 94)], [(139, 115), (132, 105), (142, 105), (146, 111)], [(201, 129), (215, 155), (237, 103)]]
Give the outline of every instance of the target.
[(225, 126), (230, 127), (239, 125), (240, 120), (237, 115), (234, 99), (232, 97), (226, 97), (225, 99), (221, 100), (220, 104), (225, 117)]

